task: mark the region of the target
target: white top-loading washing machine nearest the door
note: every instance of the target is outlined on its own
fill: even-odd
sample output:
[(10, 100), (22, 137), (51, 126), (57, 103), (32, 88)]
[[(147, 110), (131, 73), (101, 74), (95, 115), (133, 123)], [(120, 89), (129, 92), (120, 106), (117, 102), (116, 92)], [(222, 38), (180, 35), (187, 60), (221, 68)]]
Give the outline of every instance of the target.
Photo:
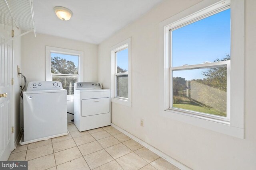
[(21, 145), (68, 134), (67, 90), (61, 82), (29, 82), (23, 92), (23, 110)]

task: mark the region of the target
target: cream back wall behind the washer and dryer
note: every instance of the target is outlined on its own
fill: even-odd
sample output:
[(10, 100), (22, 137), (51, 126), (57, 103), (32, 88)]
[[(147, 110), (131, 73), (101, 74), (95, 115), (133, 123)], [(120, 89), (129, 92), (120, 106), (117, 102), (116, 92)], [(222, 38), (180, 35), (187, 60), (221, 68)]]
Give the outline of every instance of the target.
[[(37, 33), (22, 36), (22, 73), (27, 82), (45, 81), (46, 53), (45, 47), (58, 47), (84, 52), (84, 82), (98, 81), (98, 45), (71, 39)], [(73, 111), (73, 101), (68, 101), (68, 111)], [(68, 114), (68, 121), (73, 116)]]

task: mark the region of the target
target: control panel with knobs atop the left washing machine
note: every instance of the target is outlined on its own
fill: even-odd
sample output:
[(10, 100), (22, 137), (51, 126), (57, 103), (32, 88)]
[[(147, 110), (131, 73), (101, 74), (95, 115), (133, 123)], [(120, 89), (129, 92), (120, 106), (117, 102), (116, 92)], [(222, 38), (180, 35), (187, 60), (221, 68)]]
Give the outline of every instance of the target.
[(58, 90), (63, 89), (61, 82), (45, 81), (45, 82), (29, 82), (27, 90)]

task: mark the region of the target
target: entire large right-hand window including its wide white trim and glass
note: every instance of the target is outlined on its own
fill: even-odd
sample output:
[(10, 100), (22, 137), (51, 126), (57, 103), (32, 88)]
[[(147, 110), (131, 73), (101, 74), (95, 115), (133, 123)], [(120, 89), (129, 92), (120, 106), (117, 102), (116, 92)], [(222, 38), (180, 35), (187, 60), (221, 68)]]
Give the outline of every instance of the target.
[(244, 1), (211, 3), (160, 23), (162, 115), (243, 138)]

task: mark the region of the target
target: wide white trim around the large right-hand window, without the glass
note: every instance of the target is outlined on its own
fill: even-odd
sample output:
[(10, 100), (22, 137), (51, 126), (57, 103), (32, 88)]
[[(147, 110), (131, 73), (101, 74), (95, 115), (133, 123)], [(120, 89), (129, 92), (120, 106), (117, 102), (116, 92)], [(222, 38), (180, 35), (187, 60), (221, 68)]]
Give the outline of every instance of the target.
[[(230, 2), (231, 1), (231, 2)], [(184, 20), (191, 21), (203, 14), (230, 5), (231, 12), (231, 72), (230, 123), (212, 121), (202, 116), (170, 110), (170, 28)], [(160, 23), (160, 56), (164, 56), (164, 75), (161, 115), (198, 127), (244, 139), (244, 0), (204, 0)]]

